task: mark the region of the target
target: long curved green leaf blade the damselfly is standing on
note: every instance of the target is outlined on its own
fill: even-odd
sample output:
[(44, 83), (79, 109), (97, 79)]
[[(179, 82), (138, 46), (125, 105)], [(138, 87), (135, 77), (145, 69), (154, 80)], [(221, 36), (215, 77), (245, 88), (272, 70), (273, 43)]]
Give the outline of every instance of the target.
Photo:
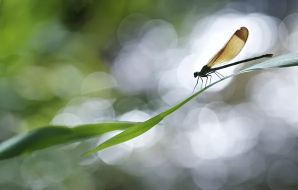
[[(240, 74), (242, 72), (248, 72), (248, 71), (253, 71), (253, 70), (260, 70), (260, 69), (268, 69), (268, 68), (276, 68), (276, 67), (288, 67), (288, 66), (296, 66), (298, 65), (298, 53), (288, 53), (288, 54), (284, 54), (284, 55), (280, 55), (280, 56), (276, 56), (270, 59), (267, 59), (265, 61), (262, 62), (258, 62), (256, 64), (252, 64), (246, 68), (243, 68), (242, 70), (231, 74), (229, 76), (226, 76), (225, 78), (223, 78), (222, 80), (229, 78), (231, 76), (234, 76), (236, 74)], [(216, 84), (217, 82), (220, 82), (222, 80), (217, 80), (216, 82), (213, 82), (212, 84), (206, 86), (204, 89), (196, 92), (195, 94), (191, 95), (190, 97), (188, 97), (187, 99), (185, 99), (184, 101), (178, 103), (177, 105), (171, 107), (170, 109), (140, 123), (137, 124), (127, 130), (124, 130), (123, 132), (109, 138), (108, 140), (102, 142), (101, 144), (99, 144), (96, 148), (89, 150), (85, 153), (83, 153), (82, 155), (86, 155), (89, 153), (94, 153), (96, 151), (102, 150), (104, 148), (125, 142), (127, 140), (130, 140), (136, 136), (141, 135), (142, 133), (146, 132), (147, 130), (149, 130), (150, 128), (152, 128), (154, 125), (156, 125), (159, 121), (161, 121), (166, 115), (172, 113), (173, 111), (177, 110), (179, 107), (181, 107), (182, 105), (184, 105), (185, 103), (187, 103), (189, 100), (191, 100), (192, 98), (194, 98), (195, 96), (197, 96), (198, 94), (200, 94), (201, 92), (203, 92), (204, 90), (206, 90), (207, 88), (211, 87), (212, 85)]]

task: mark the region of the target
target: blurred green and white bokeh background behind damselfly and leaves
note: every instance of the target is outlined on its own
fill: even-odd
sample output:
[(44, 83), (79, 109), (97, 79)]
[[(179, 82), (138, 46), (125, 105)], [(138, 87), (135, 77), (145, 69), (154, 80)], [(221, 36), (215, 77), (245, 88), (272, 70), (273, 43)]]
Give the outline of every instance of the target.
[[(193, 72), (241, 26), (234, 61), (298, 51), (297, 0), (0, 0), (0, 141), (144, 121), (190, 96)], [(0, 189), (297, 189), (297, 73), (228, 78), (84, 157), (116, 133), (0, 161)]]

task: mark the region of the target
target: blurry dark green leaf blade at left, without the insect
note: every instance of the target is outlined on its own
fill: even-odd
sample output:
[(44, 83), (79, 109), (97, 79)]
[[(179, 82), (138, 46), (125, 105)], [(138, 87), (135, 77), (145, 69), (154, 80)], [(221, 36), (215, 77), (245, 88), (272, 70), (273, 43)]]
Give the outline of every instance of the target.
[(93, 138), (103, 133), (124, 130), (139, 122), (108, 122), (85, 124), (72, 128), (46, 126), (11, 137), (0, 143), (0, 160), (29, 154), (47, 147)]

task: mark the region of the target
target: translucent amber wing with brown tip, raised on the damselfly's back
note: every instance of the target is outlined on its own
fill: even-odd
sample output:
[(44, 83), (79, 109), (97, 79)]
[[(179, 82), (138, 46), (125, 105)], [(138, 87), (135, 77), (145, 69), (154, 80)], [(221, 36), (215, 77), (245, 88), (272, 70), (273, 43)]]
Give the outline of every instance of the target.
[(233, 59), (239, 54), (247, 38), (248, 29), (246, 27), (237, 29), (223, 47), (208, 61), (207, 66), (217, 67)]

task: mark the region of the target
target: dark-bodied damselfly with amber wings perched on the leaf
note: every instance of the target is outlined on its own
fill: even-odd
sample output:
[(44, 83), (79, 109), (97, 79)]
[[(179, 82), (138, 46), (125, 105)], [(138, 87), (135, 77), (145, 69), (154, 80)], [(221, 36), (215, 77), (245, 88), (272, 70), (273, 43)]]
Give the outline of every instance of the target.
[[(193, 73), (194, 78), (197, 77), (197, 81), (196, 84), (193, 88), (193, 91), (198, 83), (198, 79), (200, 78), (202, 80), (202, 84), (200, 89), (202, 89), (202, 85), (203, 85), (203, 77), (206, 77), (206, 82), (205, 82), (205, 87), (207, 84), (207, 80), (208, 80), (208, 76), (210, 76), (210, 84), (211, 84), (211, 74), (215, 73), (221, 80), (224, 78), (224, 76), (222, 74), (220, 74), (219, 72), (217, 72), (216, 70), (222, 69), (222, 68), (226, 68), (229, 66), (233, 66), (236, 64), (240, 64), (243, 62), (248, 62), (251, 60), (256, 60), (259, 58), (264, 58), (264, 57), (272, 57), (273, 54), (263, 54), (260, 56), (256, 56), (253, 58), (248, 58), (248, 59), (244, 59), (244, 60), (240, 60), (237, 62), (233, 62), (233, 63), (229, 63), (227, 64), (231, 59), (235, 58), (239, 52), (242, 50), (243, 46), (245, 45), (246, 41), (248, 38), (248, 29), (246, 27), (240, 27), (238, 28), (233, 34), (232, 36), (226, 41), (226, 43), (221, 47), (221, 49), (219, 49), (219, 51), (217, 51), (212, 58), (210, 58), (210, 60), (207, 62), (206, 65), (204, 65), (200, 71), (196, 71)], [(222, 77), (220, 77), (220, 76)], [(193, 93), (192, 91), (192, 93)]]

